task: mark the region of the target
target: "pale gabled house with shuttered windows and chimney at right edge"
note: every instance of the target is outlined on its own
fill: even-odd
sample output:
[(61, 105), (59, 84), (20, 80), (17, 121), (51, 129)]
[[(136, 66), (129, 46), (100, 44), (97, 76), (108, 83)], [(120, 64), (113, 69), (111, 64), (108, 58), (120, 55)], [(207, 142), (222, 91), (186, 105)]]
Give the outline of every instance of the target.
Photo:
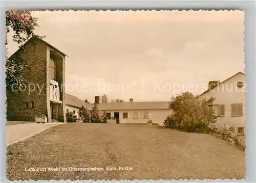
[(239, 135), (245, 130), (245, 74), (238, 72), (223, 82), (210, 81), (199, 99), (216, 98), (212, 103), (220, 124), (233, 125)]

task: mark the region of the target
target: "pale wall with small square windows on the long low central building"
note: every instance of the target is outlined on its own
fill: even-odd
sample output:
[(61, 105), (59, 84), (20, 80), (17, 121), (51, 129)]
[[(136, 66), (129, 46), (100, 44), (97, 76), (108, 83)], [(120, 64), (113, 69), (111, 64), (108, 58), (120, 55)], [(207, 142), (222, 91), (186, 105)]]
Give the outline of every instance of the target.
[[(133, 112), (138, 111), (139, 112), (139, 118), (133, 119)], [(144, 117), (144, 111), (149, 111), (150, 116), (148, 119), (143, 119)], [(119, 112), (119, 123), (126, 123), (126, 124), (132, 124), (132, 123), (141, 123), (145, 124), (148, 120), (152, 120), (153, 123), (158, 123), (159, 125), (163, 125), (163, 121), (166, 118), (166, 116), (172, 114), (172, 111), (169, 109), (154, 109), (154, 110), (106, 110), (106, 113), (111, 113), (111, 117), (114, 117), (115, 112)], [(123, 113), (128, 113), (128, 119), (123, 119)]]

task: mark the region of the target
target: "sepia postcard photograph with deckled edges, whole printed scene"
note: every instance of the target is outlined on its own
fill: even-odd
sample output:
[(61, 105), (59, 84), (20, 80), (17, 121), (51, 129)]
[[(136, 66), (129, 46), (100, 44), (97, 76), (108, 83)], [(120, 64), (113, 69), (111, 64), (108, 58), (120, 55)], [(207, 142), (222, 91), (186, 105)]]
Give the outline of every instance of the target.
[(8, 180), (245, 178), (243, 11), (5, 21)]

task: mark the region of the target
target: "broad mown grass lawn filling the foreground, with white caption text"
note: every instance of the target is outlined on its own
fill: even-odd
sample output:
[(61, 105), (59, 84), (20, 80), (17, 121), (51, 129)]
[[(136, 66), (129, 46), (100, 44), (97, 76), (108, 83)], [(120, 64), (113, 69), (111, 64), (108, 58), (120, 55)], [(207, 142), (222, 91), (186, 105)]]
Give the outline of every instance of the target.
[[(31, 167), (41, 170), (28, 171)], [(50, 167), (60, 168), (49, 171)], [(89, 167), (98, 170), (73, 169)], [(128, 168), (119, 170), (119, 167)], [(157, 126), (61, 124), (7, 148), (9, 180), (241, 179), (244, 176), (245, 153), (241, 148), (207, 134)]]

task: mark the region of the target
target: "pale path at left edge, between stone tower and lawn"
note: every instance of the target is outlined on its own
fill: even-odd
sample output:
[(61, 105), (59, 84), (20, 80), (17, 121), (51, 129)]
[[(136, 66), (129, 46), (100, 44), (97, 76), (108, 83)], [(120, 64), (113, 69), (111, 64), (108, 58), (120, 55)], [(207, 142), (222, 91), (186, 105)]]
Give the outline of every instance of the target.
[(63, 123), (27, 123), (6, 126), (6, 143), (7, 146), (21, 140), (25, 140), (42, 130)]

